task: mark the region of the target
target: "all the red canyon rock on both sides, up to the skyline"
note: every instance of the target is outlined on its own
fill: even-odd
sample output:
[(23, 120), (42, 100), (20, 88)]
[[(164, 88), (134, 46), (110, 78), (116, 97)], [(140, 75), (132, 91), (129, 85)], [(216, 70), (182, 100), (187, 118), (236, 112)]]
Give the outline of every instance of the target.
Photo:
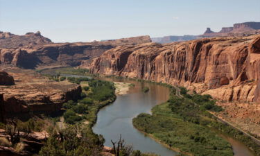
[(80, 86), (49, 80), (31, 69), (79, 67), (210, 94), (225, 107), (218, 116), (260, 135), (258, 24), (234, 24), (218, 33), (208, 28), (205, 36), (187, 36), (189, 41), (183, 42), (175, 37), (179, 42), (168, 44), (152, 42), (149, 36), (53, 43), (40, 32), (0, 32), (1, 119), (12, 113), (60, 110), (62, 103), (80, 96)]

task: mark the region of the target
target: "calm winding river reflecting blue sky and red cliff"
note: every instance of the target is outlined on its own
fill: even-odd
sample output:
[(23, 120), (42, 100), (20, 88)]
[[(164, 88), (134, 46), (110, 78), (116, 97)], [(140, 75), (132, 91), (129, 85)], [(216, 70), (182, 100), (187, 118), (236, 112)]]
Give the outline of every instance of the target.
[[(46, 71), (45, 71), (46, 72)], [(49, 73), (49, 72), (47, 72)], [(68, 77), (88, 77), (76, 75), (63, 75)], [(88, 77), (89, 78), (89, 77)], [(102, 80), (133, 83), (135, 87), (130, 87), (128, 94), (117, 95), (116, 101), (111, 105), (103, 107), (98, 112), (98, 119), (93, 131), (101, 134), (105, 138), (105, 146), (112, 146), (112, 141), (117, 141), (119, 136), (125, 139), (125, 143), (132, 145), (135, 150), (142, 152), (157, 153), (161, 156), (172, 156), (177, 153), (155, 140), (139, 132), (132, 125), (132, 119), (140, 113), (150, 113), (150, 110), (160, 103), (168, 100), (169, 89), (162, 85), (153, 83), (137, 82), (125, 79), (101, 78)], [(141, 92), (141, 89), (149, 87), (149, 92)], [(225, 134), (219, 134), (232, 145), (234, 156), (254, 156), (252, 152), (240, 141), (232, 139)]]

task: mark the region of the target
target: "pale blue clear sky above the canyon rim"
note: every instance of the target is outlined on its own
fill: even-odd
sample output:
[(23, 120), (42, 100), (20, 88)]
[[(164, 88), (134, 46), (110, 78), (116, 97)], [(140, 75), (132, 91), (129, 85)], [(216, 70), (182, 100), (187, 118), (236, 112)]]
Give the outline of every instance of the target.
[(200, 35), (260, 21), (260, 0), (0, 0), (0, 31), (53, 42)]

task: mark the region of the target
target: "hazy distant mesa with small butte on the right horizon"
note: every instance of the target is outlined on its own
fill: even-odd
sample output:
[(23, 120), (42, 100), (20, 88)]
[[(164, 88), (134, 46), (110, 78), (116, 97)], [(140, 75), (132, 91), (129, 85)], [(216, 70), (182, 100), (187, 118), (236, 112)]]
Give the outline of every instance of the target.
[(151, 40), (156, 43), (166, 44), (171, 42), (196, 40), (204, 37), (224, 37), (224, 36), (248, 36), (252, 34), (260, 34), (260, 22), (250, 21), (240, 24), (234, 24), (232, 27), (223, 27), (219, 32), (211, 31), (211, 28), (207, 28), (202, 35), (183, 35), (183, 36), (164, 36), (153, 37)]

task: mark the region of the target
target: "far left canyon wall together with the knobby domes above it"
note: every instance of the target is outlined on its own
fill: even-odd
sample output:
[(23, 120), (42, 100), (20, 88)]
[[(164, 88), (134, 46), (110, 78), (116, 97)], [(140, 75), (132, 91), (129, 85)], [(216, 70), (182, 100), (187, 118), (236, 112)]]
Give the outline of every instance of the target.
[[(149, 36), (140, 36), (104, 42), (53, 43), (40, 32), (20, 36), (0, 34), (3, 34), (2, 39), (0, 35), (0, 64), (24, 69), (75, 67), (119, 45), (151, 42)], [(32, 40), (36, 42), (32, 44)]]

